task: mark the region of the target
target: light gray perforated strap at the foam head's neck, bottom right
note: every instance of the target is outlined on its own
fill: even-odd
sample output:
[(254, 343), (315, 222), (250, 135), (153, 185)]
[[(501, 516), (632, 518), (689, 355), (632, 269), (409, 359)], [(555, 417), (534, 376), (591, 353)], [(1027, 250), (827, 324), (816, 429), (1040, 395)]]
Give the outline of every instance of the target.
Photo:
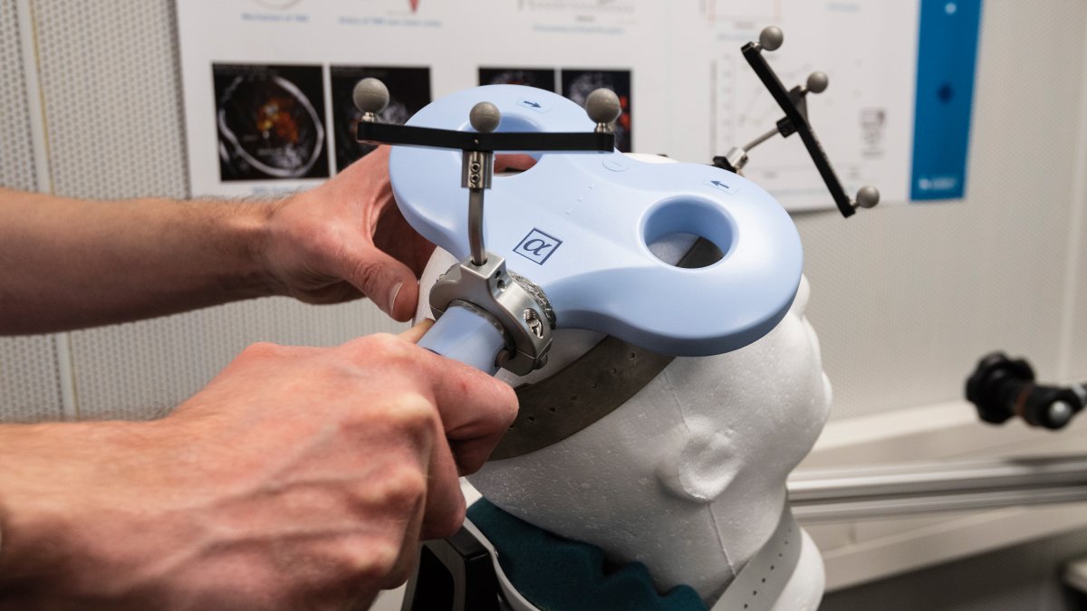
[(802, 545), (800, 525), (786, 502), (774, 534), (740, 569), (711, 611), (772, 609), (797, 569)]

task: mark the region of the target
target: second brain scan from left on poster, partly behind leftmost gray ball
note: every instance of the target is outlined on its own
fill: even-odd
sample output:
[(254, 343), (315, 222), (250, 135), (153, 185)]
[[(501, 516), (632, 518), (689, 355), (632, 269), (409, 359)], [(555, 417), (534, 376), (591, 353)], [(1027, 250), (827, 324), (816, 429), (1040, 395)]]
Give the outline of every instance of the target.
[(333, 122), (336, 140), (336, 171), (341, 172), (374, 150), (372, 145), (355, 140), (355, 124), (362, 113), (354, 107), (352, 91), (363, 78), (378, 78), (389, 88), (389, 105), (378, 119), (383, 123), (402, 125), (423, 107), (430, 103), (430, 68), (337, 66), (330, 68), (333, 84)]

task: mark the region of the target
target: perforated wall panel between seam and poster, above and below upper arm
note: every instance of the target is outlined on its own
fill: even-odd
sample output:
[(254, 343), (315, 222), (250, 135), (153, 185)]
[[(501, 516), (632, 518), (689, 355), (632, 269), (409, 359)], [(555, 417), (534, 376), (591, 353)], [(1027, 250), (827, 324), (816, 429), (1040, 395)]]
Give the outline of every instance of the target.
[[(173, 3), (38, 0), (34, 8), (58, 192), (186, 197)], [(335, 345), (400, 327), (367, 302), (264, 299), (73, 333), (79, 415), (161, 415), (254, 341)]]

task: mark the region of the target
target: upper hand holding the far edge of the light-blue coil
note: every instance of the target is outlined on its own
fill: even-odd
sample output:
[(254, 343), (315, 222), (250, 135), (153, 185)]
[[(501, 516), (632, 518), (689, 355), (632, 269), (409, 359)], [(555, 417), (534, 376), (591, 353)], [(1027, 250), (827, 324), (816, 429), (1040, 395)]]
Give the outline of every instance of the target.
[[(497, 171), (526, 170), (524, 154), (497, 155)], [(277, 202), (264, 259), (278, 292), (310, 303), (371, 298), (398, 321), (415, 313), (417, 278), (434, 245), (408, 224), (392, 198), (389, 147), (336, 177)]]

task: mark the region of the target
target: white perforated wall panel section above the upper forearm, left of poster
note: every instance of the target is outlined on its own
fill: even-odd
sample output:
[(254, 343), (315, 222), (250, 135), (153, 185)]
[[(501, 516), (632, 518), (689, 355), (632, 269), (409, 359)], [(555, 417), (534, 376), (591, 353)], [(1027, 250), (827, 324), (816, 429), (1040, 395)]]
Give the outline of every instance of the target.
[(185, 197), (173, 4), (32, 4), (55, 192)]

